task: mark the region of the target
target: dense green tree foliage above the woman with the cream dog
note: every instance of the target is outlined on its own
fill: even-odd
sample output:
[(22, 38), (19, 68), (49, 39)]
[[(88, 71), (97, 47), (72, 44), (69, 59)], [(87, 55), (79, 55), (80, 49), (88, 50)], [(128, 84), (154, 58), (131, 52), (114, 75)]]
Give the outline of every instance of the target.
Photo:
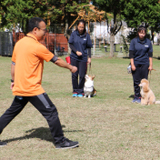
[(154, 31), (159, 32), (160, 3), (159, 0), (125, 0), (123, 1), (121, 15), (131, 28), (137, 28), (140, 24), (148, 26), (151, 30), (152, 40)]

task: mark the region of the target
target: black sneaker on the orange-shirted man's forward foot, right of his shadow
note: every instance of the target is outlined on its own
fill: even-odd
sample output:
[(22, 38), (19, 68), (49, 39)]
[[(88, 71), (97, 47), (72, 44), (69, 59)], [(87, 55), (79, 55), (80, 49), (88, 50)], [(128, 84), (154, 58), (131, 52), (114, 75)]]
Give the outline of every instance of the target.
[(75, 148), (78, 146), (79, 146), (78, 142), (71, 141), (67, 138), (64, 138), (59, 143), (55, 144), (56, 149), (68, 149), (68, 148)]

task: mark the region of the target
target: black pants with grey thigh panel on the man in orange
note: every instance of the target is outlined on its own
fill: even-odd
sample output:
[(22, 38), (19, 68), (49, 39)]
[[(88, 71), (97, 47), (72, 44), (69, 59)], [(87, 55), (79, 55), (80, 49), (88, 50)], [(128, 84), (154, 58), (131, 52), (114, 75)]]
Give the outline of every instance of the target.
[(23, 110), (28, 102), (33, 104), (33, 106), (47, 120), (54, 142), (57, 143), (60, 141), (64, 135), (60, 120), (58, 118), (58, 112), (46, 93), (33, 97), (15, 96), (10, 108), (7, 109), (6, 112), (0, 117), (0, 134), (3, 129), (14, 119), (14, 117), (16, 117)]

